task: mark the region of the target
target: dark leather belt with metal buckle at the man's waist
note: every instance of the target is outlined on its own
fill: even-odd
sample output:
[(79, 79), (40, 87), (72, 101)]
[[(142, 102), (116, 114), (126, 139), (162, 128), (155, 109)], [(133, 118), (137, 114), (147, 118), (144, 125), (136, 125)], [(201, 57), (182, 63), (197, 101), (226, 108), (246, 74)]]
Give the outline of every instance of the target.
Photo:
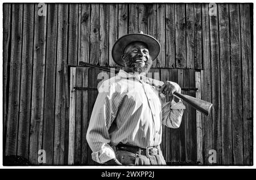
[(121, 151), (129, 151), (132, 153), (138, 153), (141, 155), (150, 155), (150, 156), (154, 156), (154, 155), (159, 155), (160, 154), (160, 147), (159, 145), (156, 145), (155, 147), (147, 147), (145, 148), (139, 148), (139, 147), (135, 147), (135, 146), (131, 146), (131, 145), (126, 145), (126, 144), (118, 144), (116, 146), (117, 150), (121, 150)]

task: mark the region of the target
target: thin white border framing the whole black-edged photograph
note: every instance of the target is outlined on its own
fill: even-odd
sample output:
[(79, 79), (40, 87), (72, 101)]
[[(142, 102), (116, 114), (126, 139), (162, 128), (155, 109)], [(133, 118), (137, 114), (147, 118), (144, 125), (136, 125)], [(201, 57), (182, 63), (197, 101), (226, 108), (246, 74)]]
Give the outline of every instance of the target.
[[(15, 0), (9, 0), (9, 1), (2, 1), (1, 2), (1, 8), (0, 8), (0, 24), (1, 24), (1, 35), (0, 35), (0, 54), (1, 54), (1, 61), (0, 61), (0, 84), (1, 84), (1, 89), (0, 89), (0, 119), (1, 119), (1, 123), (0, 123), (0, 130), (3, 130), (3, 3), (39, 3), (39, 2), (44, 2), (44, 3), (138, 3), (138, 1), (121, 1), (121, 0), (116, 0), (116, 1), (99, 1), (99, 0), (94, 0), (94, 1), (72, 1), (70, 2), (67, 0), (56, 0), (56, 1), (49, 1), (49, 0), (45, 0), (45, 1), (15, 1)], [(147, 2), (147, 3), (159, 3), (159, 2), (163, 2), (163, 3), (179, 3), (179, 2), (184, 2), (184, 3), (253, 3), (253, 1), (237, 1), (237, 0), (226, 0), (226, 1), (220, 1), (220, 0), (215, 0), (215, 1), (145, 1), (145, 0), (141, 0), (140, 3), (143, 2)], [(255, 13), (253, 14), (253, 19), (255, 20)], [(255, 28), (253, 28), (253, 42), (255, 42)], [(253, 45), (252, 42), (252, 45)], [(256, 48), (254, 45), (253, 48), (253, 57), (254, 57), (254, 52), (255, 52)], [(253, 64), (253, 70), (254, 70), (254, 64)], [(255, 84), (255, 74), (253, 74), (253, 84)], [(253, 97), (255, 97), (255, 90), (253, 89)], [(254, 101), (253, 101), (253, 113), (255, 112), (255, 106), (254, 106)], [(254, 119), (253, 119), (254, 120)], [(253, 121), (253, 127), (255, 127), (255, 121)], [(154, 169), (192, 169), (192, 168), (196, 168), (196, 169), (255, 169), (255, 164), (256, 164), (256, 154), (255, 154), (255, 148), (253, 147), (253, 162), (254, 165), (253, 166), (3, 166), (3, 131), (0, 131), (0, 168), (1, 169), (152, 169), (152, 171), (154, 171)], [(253, 130), (254, 132), (254, 130)], [(255, 136), (253, 133), (253, 145), (255, 145), (256, 140), (255, 140)]]

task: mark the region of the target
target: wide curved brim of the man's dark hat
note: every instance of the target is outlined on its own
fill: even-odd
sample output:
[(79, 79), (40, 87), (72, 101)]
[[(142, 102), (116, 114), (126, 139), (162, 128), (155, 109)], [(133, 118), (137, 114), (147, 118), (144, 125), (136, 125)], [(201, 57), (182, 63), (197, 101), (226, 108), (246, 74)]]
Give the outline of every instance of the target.
[(160, 53), (160, 43), (156, 38), (142, 33), (131, 33), (120, 37), (112, 48), (112, 58), (119, 66), (125, 66), (125, 63), (122, 60), (123, 49), (134, 41), (141, 41), (147, 45), (152, 61), (158, 57)]

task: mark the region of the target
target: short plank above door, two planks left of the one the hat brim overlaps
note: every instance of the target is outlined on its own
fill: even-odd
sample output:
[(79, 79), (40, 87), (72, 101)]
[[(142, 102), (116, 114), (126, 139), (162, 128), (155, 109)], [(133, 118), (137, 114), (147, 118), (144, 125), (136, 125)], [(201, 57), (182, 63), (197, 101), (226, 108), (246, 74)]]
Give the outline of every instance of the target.
[(90, 14), (90, 63), (99, 63), (99, 4), (91, 4)]

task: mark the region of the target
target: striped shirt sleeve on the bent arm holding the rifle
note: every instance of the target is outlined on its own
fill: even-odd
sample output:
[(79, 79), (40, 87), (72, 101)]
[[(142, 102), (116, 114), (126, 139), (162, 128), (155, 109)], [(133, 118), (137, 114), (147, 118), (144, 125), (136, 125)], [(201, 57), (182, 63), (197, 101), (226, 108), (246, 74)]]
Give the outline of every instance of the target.
[(163, 125), (170, 128), (179, 128), (184, 113), (185, 106), (182, 101), (165, 102), (162, 104)]

